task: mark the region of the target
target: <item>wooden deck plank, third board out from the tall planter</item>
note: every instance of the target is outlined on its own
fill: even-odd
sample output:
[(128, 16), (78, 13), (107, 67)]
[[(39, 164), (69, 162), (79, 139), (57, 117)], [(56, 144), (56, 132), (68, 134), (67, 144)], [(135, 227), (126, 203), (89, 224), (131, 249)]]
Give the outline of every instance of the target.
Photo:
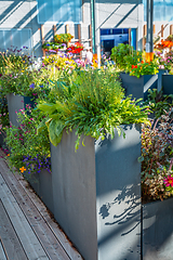
[[(31, 226), (0, 174), (0, 198), (29, 260), (49, 260)], [(29, 213), (29, 212), (28, 212)]]

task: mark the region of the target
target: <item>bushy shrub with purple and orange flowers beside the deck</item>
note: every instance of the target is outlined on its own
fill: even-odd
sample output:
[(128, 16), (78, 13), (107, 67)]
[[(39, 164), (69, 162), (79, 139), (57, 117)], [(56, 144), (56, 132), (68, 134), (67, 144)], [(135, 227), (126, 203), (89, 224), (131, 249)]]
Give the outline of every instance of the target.
[(40, 172), (41, 169), (51, 170), (50, 142), (46, 127), (37, 135), (37, 127), (43, 119), (42, 115), (31, 109), (22, 109), (18, 114), (19, 127), (11, 126), (6, 129), (6, 145), (9, 146), (9, 161), (23, 173)]

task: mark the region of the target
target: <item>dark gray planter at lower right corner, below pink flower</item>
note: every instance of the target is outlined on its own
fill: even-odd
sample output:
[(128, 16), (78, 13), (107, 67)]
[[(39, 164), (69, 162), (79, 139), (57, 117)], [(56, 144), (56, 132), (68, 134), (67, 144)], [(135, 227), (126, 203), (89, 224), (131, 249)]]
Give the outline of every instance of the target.
[(173, 198), (143, 205), (143, 260), (173, 259)]

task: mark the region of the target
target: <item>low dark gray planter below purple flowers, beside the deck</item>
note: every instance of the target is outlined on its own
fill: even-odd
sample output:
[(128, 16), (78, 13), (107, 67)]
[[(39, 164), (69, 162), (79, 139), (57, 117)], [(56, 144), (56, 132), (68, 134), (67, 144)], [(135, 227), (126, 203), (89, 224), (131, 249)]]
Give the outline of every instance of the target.
[(34, 174), (28, 174), (27, 171), (23, 173), (25, 179), (29, 182), (31, 187), (35, 190), (37, 195), (50, 209), (54, 212), (53, 207), (53, 191), (52, 191), (52, 173), (46, 170), (41, 170), (41, 172), (36, 172)]

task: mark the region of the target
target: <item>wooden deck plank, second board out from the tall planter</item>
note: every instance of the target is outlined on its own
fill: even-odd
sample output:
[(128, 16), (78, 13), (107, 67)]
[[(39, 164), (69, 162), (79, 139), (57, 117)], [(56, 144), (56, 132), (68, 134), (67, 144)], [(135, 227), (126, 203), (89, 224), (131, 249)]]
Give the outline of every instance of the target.
[[(44, 250), (46, 250), (49, 257), (51, 259), (69, 260), (69, 257), (62, 247), (61, 243), (53, 234), (53, 232), (51, 231), (45, 220), (40, 214), (37, 207), (34, 205), (31, 199), (27, 196), (25, 190), (22, 187), (15, 176), (10, 173), (8, 174), (8, 172), (5, 172), (4, 162), (1, 162), (0, 171), (2, 172), (1, 174), (3, 176), (5, 182), (8, 183), (12, 194), (15, 196), (18, 205), (23, 209), (26, 219), (28, 220), (28, 222), (32, 226), (32, 230), (39, 237), (39, 240), (43, 245)], [(28, 190), (28, 187), (26, 188)], [(41, 207), (43, 205), (41, 203)]]

